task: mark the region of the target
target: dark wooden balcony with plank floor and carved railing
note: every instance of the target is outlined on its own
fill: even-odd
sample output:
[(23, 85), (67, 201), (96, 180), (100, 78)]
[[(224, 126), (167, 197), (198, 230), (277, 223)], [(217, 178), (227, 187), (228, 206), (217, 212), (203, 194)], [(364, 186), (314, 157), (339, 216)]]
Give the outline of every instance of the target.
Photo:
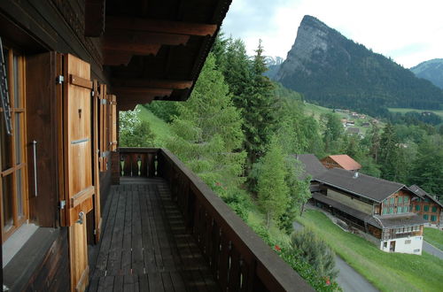
[(170, 151), (119, 152), (89, 291), (313, 290)]

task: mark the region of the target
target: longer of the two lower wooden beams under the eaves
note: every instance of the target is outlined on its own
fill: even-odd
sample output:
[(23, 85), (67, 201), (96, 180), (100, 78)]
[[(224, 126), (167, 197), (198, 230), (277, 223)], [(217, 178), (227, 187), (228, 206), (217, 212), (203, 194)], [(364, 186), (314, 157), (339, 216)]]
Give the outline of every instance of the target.
[(149, 80), (149, 79), (113, 79), (114, 87), (120, 88), (165, 88), (187, 89), (192, 87), (193, 81)]

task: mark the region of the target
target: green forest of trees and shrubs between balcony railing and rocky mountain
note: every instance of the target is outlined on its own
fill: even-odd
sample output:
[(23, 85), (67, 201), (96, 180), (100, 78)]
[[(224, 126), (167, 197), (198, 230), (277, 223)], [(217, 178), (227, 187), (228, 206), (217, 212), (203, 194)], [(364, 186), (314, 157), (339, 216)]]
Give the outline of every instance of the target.
[[(249, 57), (242, 40), (219, 35), (187, 102), (143, 106), (170, 134), (157, 139), (140, 108), (120, 112), (120, 147), (171, 150), (315, 289), (334, 290), (333, 252), (314, 233), (292, 234), (310, 197), (292, 155), (347, 154), (362, 173), (439, 195), (443, 127), (396, 119), (363, 138), (346, 134), (338, 114), (305, 113), (303, 96), (270, 81), (267, 70), (260, 42)], [(303, 250), (300, 236), (319, 248)]]

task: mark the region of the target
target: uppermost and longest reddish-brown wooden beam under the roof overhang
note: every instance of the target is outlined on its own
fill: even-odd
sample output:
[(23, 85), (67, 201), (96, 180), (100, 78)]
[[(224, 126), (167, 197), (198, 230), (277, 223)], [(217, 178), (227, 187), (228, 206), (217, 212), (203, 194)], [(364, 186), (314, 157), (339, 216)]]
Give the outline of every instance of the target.
[(129, 17), (108, 16), (106, 18), (106, 29), (110, 28), (149, 31), (175, 35), (212, 36), (217, 30), (217, 25), (159, 19), (136, 19)]

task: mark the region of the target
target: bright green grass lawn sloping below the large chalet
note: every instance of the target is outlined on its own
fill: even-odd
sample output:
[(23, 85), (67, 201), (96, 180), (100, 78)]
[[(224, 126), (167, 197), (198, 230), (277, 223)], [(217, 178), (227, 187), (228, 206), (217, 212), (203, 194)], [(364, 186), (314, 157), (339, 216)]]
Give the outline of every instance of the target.
[(382, 291), (441, 291), (443, 260), (386, 253), (355, 234), (348, 234), (320, 211), (306, 211), (299, 222), (312, 228), (349, 265)]

